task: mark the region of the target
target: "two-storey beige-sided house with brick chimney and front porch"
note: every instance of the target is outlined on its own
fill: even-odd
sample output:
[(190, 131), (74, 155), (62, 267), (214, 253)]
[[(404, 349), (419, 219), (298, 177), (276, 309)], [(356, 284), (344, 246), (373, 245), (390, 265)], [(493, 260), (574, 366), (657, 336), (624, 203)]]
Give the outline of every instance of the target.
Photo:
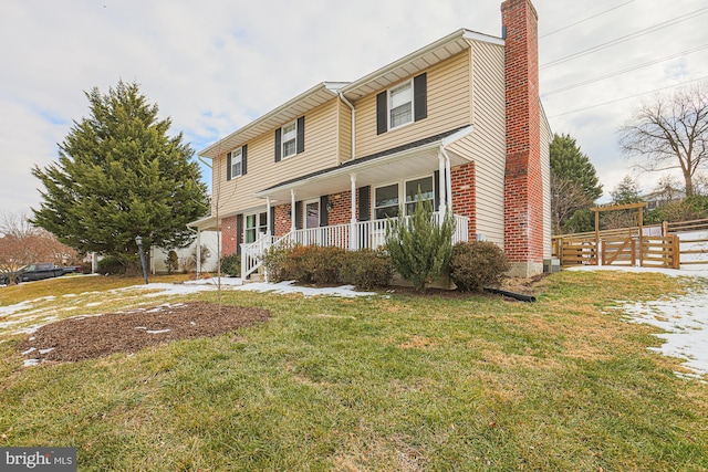
[(282, 239), (378, 247), (386, 219), (420, 197), (451, 209), (455, 242), (492, 241), (514, 275), (542, 272), (551, 133), (538, 18), (529, 0), (501, 11), (502, 38), (456, 31), (357, 81), (316, 85), (200, 151), (214, 161), (212, 209), (190, 225), (220, 228), (247, 276)]

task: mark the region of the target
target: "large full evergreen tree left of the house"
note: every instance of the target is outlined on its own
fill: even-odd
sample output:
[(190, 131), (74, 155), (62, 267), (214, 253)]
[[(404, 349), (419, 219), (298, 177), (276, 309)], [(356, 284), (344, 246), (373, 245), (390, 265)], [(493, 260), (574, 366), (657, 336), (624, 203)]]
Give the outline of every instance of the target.
[(85, 95), (90, 116), (74, 122), (59, 161), (32, 170), (44, 186), (32, 222), (124, 265), (136, 260), (137, 234), (148, 248), (189, 244), (186, 224), (206, 213), (208, 196), (181, 133), (167, 136), (170, 119), (158, 119), (136, 83)]

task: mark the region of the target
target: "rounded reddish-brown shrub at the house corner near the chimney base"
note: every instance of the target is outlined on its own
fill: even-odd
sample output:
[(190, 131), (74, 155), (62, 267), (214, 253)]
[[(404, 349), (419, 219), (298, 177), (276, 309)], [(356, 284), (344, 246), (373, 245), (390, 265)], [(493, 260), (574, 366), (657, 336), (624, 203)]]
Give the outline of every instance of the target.
[(503, 251), (493, 242), (458, 242), (452, 247), (450, 279), (458, 290), (481, 292), (498, 287), (511, 266)]

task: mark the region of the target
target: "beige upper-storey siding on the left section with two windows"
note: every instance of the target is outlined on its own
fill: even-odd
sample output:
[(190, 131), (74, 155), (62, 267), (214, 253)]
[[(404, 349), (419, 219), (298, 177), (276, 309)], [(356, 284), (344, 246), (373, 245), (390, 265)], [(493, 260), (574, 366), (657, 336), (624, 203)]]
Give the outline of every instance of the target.
[[(219, 195), (219, 214), (227, 217), (248, 209), (264, 208), (266, 200), (254, 198), (254, 192), (299, 176), (336, 166), (339, 164), (340, 102), (339, 98), (333, 98), (305, 115), (304, 153), (275, 162), (275, 129), (272, 129), (248, 143), (247, 174), (227, 181), (226, 153), (231, 149), (225, 149), (219, 159), (215, 159), (212, 177), (212, 192), (215, 196)], [(216, 204), (215, 198), (212, 214), (216, 214)]]

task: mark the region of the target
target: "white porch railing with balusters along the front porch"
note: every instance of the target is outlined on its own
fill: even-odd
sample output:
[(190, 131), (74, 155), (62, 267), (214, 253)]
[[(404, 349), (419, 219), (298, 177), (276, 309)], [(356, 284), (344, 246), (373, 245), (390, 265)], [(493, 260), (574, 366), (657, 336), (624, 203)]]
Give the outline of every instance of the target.
[[(452, 244), (468, 241), (469, 218), (459, 214), (454, 217)], [(435, 212), (433, 218), (436, 222), (440, 222), (439, 212)], [(263, 252), (273, 244), (332, 245), (351, 250), (377, 249), (386, 244), (387, 227), (387, 220), (372, 220), (357, 221), (354, 224), (343, 223), (294, 230), (279, 239), (263, 235), (256, 242), (241, 244), (241, 276), (246, 279), (256, 272), (262, 264)]]

